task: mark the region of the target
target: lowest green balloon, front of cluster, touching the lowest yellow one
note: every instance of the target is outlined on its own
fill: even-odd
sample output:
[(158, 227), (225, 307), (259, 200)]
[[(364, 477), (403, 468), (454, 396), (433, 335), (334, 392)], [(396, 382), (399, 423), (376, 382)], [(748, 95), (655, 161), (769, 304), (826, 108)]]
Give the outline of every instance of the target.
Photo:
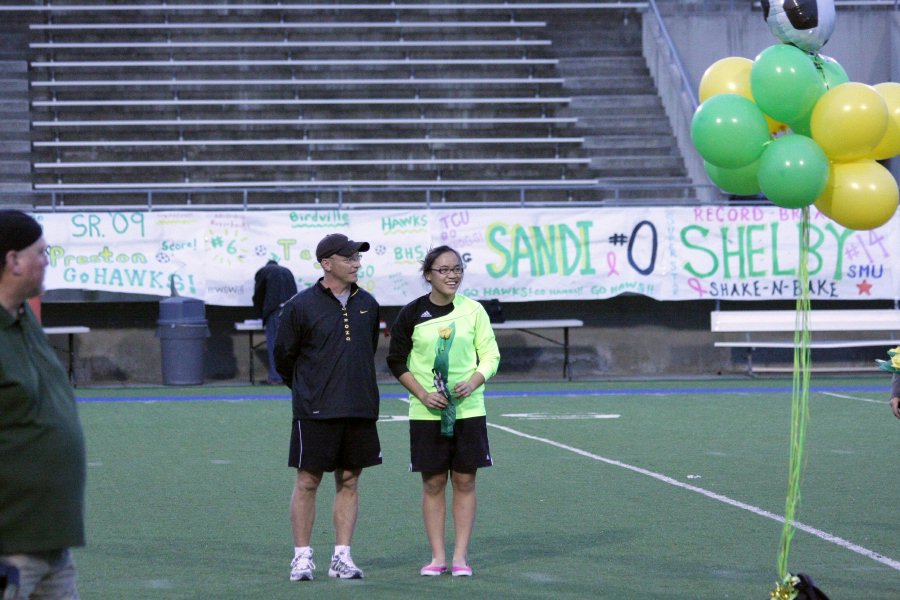
[(828, 183), (828, 157), (811, 138), (786, 135), (759, 159), (759, 187), (772, 204), (803, 208), (816, 201)]

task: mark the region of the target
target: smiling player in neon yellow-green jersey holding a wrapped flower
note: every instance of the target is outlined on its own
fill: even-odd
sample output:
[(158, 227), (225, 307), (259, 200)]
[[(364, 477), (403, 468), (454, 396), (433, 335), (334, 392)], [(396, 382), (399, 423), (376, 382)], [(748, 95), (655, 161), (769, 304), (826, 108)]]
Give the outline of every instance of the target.
[(449, 246), (425, 256), (422, 276), (431, 291), (400, 311), (387, 358), (409, 390), (409, 468), (422, 474), (422, 516), (431, 545), (431, 561), (419, 571), (426, 576), (448, 570), (448, 473), (455, 533), (450, 573), (472, 575), (468, 547), (475, 525), (475, 475), (493, 464), (484, 383), (497, 372), (500, 351), (484, 307), (458, 293), (463, 272), (459, 253)]

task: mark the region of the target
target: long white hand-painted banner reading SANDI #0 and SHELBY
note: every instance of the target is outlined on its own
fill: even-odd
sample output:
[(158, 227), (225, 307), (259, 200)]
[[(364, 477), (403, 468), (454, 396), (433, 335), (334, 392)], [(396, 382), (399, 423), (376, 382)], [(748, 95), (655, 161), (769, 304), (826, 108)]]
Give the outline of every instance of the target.
[[(814, 300), (900, 298), (900, 214), (872, 231), (811, 209)], [(799, 294), (800, 211), (774, 206), (82, 212), (35, 215), (50, 244), (46, 287), (249, 306), (269, 259), (300, 289), (321, 276), (318, 241), (367, 241), (359, 284), (384, 306), (427, 290), (420, 260), (447, 244), (466, 262), (463, 292), (502, 302), (774, 300)]]

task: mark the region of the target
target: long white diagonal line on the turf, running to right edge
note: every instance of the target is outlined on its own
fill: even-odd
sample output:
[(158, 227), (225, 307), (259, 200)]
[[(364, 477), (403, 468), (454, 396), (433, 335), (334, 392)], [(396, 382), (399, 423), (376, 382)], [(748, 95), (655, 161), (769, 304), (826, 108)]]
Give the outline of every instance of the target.
[[(554, 446), (556, 448), (560, 448), (562, 450), (567, 450), (569, 452), (578, 454), (579, 456), (584, 456), (586, 458), (590, 458), (592, 460), (606, 463), (606, 464), (612, 465), (614, 467), (620, 467), (623, 469), (627, 469), (629, 471), (633, 471), (635, 473), (639, 473), (641, 475), (646, 475), (647, 477), (652, 477), (653, 479), (657, 479), (659, 481), (662, 481), (663, 483), (668, 483), (669, 485), (673, 485), (673, 486), (681, 488), (683, 490), (687, 490), (689, 492), (694, 492), (694, 493), (700, 494), (701, 496), (706, 496), (707, 498), (710, 498), (717, 502), (721, 502), (722, 504), (727, 504), (727, 505), (733, 506), (735, 508), (740, 508), (741, 510), (746, 510), (755, 515), (758, 515), (760, 517), (765, 517), (766, 519), (771, 519), (778, 523), (782, 523), (782, 524), (784, 523), (784, 517), (782, 517), (781, 515), (776, 515), (775, 513), (769, 512), (767, 510), (763, 510), (762, 508), (759, 508), (758, 506), (753, 506), (752, 504), (747, 504), (746, 502), (734, 500), (732, 498), (729, 498), (728, 496), (723, 496), (722, 494), (716, 494), (714, 492), (710, 492), (709, 490), (699, 488), (695, 485), (683, 483), (681, 481), (678, 481), (677, 479), (672, 479), (671, 477), (668, 477), (661, 473), (656, 473), (654, 471), (642, 469), (641, 467), (629, 465), (628, 463), (623, 463), (621, 461), (614, 460), (611, 458), (605, 458), (603, 456), (599, 456), (597, 454), (592, 454), (590, 452), (581, 450), (579, 448), (575, 448), (573, 446), (567, 446), (566, 444), (561, 444), (559, 442), (556, 442), (556, 441), (553, 441), (553, 440), (550, 440), (547, 438), (542, 438), (542, 437), (538, 437), (536, 435), (531, 435), (528, 433), (517, 431), (510, 427), (506, 427), (504, 425), (496, 425), (494, 423), (488, 423), (488, 426), (494, 427), (495, 429), (499, 429), (501, 431), (505, 431), (507, 433), (511, 433), (513, 435), (517, 435), (519, 437), (522, 437), (522, 438), (525, 438), (528, 440), (541, 442), (544, 444), (548, 444), (550, 446)], [(841, 537), (838, 537), (836, 535), (828, 533), (827, 531), (822, 531), (821, 529), (816, 529), (815, 527), (811, 527), (811, 526), (801, 523), (799, 521), (794, 521), (794, 527), (800, 531), (804, 531), (806, 533), (814, 535), (817, 538), (822, 539), (826, 542), (831, 542), (832, 544), (840, 546), (841, 548), (850, 550), (851, 552), (855, 552), (857, 554), (865, 556), (866, 558), (871, 558), (872, 560), (879, 562), (883, 565), (886, 565), (886, 566), (894, 569), (895, 571), (900, 571), (900, 561), (898, 561), (898, 560), (895, 560), (888, 556), (884, 556), (883, 554), (879, 554), (873, 550), (869, 550), (868, 548), (864, 548), (858, 544), (854, 544), (853, 542), (851, 542), (849, 540), (845, 540)]]

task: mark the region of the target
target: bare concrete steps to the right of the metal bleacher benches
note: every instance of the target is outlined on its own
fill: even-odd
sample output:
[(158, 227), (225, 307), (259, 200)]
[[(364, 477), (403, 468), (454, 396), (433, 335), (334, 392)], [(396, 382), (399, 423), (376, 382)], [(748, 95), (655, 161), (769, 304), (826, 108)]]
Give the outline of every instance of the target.
[[(641, 53), (640, 15), (596, 10), (559, 12), (548, 19), (552, 51), (571, 104), (591, 176), (628, 185), (623, 198), (684, 198), (684, 161)], [(690, 197), (690, 196), (687, 196)]]

